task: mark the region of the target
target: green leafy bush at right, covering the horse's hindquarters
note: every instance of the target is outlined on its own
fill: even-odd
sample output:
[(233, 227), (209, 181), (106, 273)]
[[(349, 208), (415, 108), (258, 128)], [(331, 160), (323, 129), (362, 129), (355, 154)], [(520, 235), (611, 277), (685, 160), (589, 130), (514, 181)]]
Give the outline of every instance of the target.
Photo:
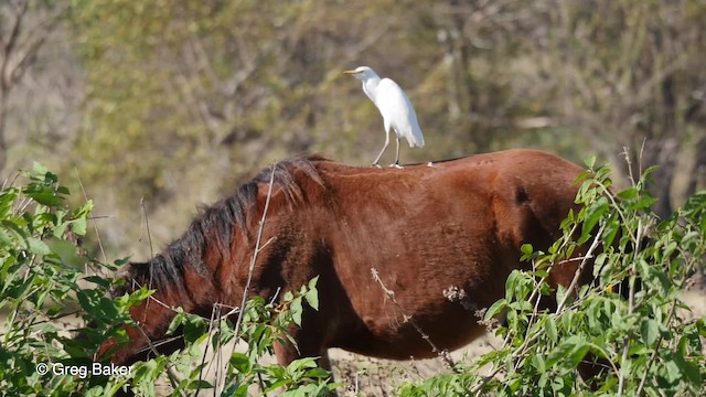
[[(503, 345), (459, 368), (460, 375), (404, 385), (403, 396), (704, 393), (706, 320), (691, 319), (680, 298), (689, 277), (704, 271), (706, 191), (660, 219), (646, 191), (652, 170), (614, 193), (609, 169), (593, 161), (579, 179), (582, 207), (563, 223), (564, 237), (547, 253), (524, 246), (532, 270), (513, 271), (505, 298), (484, 314), (492, 323), (505, 313), (506, 324), (495, 328)], [(543, 309), (539, 298), (554, 292), (548, 271), (577, 255), (581, 267), (595, 260), (596, 280), (559, 287), (557, 304)], [(598, 375), (578, 376), (598, 368), (591, 364), (601, 368)]]

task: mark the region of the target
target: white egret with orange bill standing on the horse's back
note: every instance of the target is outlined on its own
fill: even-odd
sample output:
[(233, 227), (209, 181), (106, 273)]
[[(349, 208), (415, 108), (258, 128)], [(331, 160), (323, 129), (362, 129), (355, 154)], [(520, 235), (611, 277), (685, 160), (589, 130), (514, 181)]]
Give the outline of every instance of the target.
[(385, 146), (373, 162), (374, 167), (379, 167), (379, 158), (383, 157), (385, 149), (389, 144), (389, 130), (394, 129), (397, 135), (397, 152), (395, 154), (396, 168), (399, 165), (399, 141), (403, 137), (407, 138), (409, 147), (424, 147), (424, 136), (421, 128), (417, 121), (417, 114), (411, 106), (411, 101), (407, 97), (397, 83), (389, 78), (381, 79), (377, 73), (367, 66), (356, 67), (355, 71), (345, 71), (345, 74), (363, 82), (363, 92), (375, 104), (385, 124)]

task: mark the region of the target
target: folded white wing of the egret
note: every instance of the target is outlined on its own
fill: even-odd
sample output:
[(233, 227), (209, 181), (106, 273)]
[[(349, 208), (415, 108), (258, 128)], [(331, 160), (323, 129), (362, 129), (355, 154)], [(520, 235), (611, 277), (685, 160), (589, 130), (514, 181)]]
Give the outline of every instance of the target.
[(376, 90), (375, 106), (386, 124), (395, 129), (397, 136), (407, 138), (409, 147), (424, 147), (424, 136), (417, 121), (417, 114), (407, 94), (389, 78), (383, 78)]

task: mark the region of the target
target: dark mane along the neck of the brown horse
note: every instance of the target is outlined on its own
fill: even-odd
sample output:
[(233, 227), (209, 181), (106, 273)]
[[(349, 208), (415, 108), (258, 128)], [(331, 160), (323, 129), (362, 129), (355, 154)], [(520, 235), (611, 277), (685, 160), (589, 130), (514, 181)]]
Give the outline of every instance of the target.
[[(323, 185), (317, 163), (328, 161), (319, 155), (298, 157), (276, 162), (263, 169), (249, 182), (243, 184), (235, 194), (225, 197), (211, 206), (201, 210), (201, 214), (191, 223), (186, 233), (173, 240), (162, 254), (157, 255), (147, 266), (133, 267), (139, 273), (130, 278), (149, 288), (160, 290), (162, 286), (176, 286), (183, 289), (183, 271), (189, 266), (204, 275), (208, 267), (204, 264), (204, 255), (210, 239), (214, 239), (215, 249), (227, 260), (231, 253), (231, 240), (235, 228), (252, 237), (246, 224), (257, 201), (258, 186), (268, 185), (272, 179), (274, 189), (278, 189), (289, 204), (304, 200), (304, 193), (297, 180), (297, 173), (303, 174), (315, 183)], [(139, 270), (138, 270), (139, 269)], [(128, 289), (131, 289), (128, 287)]]

